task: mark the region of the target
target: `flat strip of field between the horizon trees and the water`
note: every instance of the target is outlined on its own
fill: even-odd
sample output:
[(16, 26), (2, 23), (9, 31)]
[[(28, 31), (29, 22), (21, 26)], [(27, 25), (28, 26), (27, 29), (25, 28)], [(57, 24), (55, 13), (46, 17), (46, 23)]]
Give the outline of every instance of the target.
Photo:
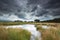
[(0, 26), (22, 25), (22, 24), (50, 25), (50, 26), (60, 25), (60, 23), (50, 23), (50, 22), (0, 22)]

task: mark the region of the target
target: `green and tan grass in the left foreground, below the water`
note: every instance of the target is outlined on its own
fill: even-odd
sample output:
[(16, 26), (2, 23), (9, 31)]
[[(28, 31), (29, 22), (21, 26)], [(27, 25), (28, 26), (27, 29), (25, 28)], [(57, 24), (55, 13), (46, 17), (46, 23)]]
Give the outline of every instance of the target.
[(23, 29), (0, 28), (0, 40), (30, 40), (30, 32)]

